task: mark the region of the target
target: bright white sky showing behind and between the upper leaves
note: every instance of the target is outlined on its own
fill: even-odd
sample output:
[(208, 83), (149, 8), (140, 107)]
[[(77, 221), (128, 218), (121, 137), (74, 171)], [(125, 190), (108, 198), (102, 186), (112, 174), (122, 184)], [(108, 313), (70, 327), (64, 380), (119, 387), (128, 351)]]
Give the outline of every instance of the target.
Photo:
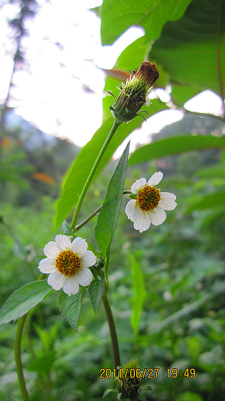
[[(112, 68), (123, 49), (142, 36), (143, 30), (131, 28), (113, 46), (102, 47), (100, 18), (88, 11), (100, 6), (101, 0), (64, 0), (63, 7), (62, 0), (52, 3), (39, 0), (39, 4), (39, 14), (27, 24), (30, 36), (23, 42), (29, 65), (14, 77), (11, 106), (44, 132), (70, 138), (83, 146), (102, 122), (105, 74), (100, 68)], [(7, 18), (15, 17), (16, 12), (17, 6), (11, 4), (4, 6), (0, 13), (1, 103), (6, 97), (13, 68)], [(205, 102), (200, 110), (202, 99)], [(210, 112), (214, 106), (214, 112), (219, 113), (221, 101), (207, 91), (201, 99), (186, 104), (190, 110), (209, 112), (205, 109), (207, 105), (210, 105)], [(181, 118), (182, 113), (177, 110), (151, 117), (138, 134), (132, 134), (131, 149), (137, 141), (144, 143), (150, 132), (158, 132), (165, 124)]]

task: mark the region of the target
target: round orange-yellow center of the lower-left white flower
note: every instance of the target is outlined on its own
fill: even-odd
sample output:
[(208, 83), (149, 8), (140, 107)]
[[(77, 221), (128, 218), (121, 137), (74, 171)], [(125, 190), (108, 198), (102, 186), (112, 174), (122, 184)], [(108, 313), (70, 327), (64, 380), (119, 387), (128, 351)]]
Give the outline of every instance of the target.
[(56, 269), (64, 276), (74, 276), (80, 268), (80, 258), (69, 250), (60, 252), (56, 258)]

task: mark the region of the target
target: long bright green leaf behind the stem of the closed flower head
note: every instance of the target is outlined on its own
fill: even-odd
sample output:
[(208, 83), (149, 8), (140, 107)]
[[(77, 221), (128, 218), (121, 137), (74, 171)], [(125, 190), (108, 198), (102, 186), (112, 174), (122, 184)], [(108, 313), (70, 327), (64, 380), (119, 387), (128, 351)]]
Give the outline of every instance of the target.
[[(150, 115), (163, 110), (164, 105), (156, 100), (152, 100), (150, 107), (144, 106), (142, 109), (148, 111)], [(141, 117), (134, 118), (129, 124), (122, 124), (114, 134), (102, 160), (98, 166), (97, 174), (111, 159), (113, 153), (117, 147), (123, 142), (123, 140), (135, 129), (142, 124), (143, 119)], [(88, 178), (88, 175), (94, 165), (94, 162), (108, 136), (108, 133), (112, 127), (113, 118), (109, 116), (102, 126), (95, 132), (92, 139), (81, 149), (80, 153), (72, 163), (71, 168), (66, 175), (63, 187), (62, 195), (57, 202), (57, 216), (56, 226), (59, 226), (64, 219), (71, 212), (72, 208), (76, 205), (80, 193), (84, 187), (84, 184)]]

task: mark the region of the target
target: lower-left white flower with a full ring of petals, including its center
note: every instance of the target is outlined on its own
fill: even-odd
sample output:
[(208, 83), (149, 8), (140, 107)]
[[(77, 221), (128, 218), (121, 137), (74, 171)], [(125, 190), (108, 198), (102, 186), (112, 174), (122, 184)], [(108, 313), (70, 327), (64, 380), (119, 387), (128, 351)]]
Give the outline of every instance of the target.
[(96, 256), (88, 251), (88, 244), (81, 237), (71, 243), (66, 235), (57, 235), (56, 242), (50, 241), (44, 248), (47, 258), (41, 260), (39, 269), (42, 273), (50, 273), (48, 284), (54, 290), (68, 294), (77, 294), (79, 284), (86, 287), (92, 281), (92, 273), (88, 267), (96, 262)]

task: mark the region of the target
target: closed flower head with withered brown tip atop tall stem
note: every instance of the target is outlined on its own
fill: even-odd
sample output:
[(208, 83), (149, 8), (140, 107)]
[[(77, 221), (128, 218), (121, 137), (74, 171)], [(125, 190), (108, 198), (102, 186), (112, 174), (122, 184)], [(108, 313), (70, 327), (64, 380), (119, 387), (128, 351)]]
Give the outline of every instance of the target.
[(159, 77), (155, 64), (149, 61), (143, 62), (137, 72), (133, 71), (133, 73), (133, 77), (130, 75), (126, 83), (121, 84), (116, 102), (109, 107), (113, 117), (121, 123), (129, 122), (134, 117), (141, 115), (138, 114), (138, 111), (145, 104), (147, 95)]

